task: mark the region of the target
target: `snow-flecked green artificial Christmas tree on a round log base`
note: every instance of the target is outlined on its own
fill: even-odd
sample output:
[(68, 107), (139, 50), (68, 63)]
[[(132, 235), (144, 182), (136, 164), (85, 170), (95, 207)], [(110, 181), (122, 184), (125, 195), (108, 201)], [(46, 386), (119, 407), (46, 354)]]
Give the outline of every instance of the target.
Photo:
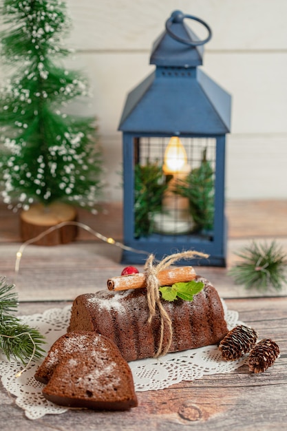
[[(12, 211), (23, 209), (27, 239), (74, 220), (74, 206), (93, 211), (101, 152), (95, 118), (67, 112), (74, 98), (88, 96), (88, 85), (81, 72), (59, 63), (70, 54), (61, 42), (70, 27), (65, 2), (2, 0), (0, 12), (9, 76), (0, 89), (1, 191)], [(36, 229), (27, 233), (29, 225)]]

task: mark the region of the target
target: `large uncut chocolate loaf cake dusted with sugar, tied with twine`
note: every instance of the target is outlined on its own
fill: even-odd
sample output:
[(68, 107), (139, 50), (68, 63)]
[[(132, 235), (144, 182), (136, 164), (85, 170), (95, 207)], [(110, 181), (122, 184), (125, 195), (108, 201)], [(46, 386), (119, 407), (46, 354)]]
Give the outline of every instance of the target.
[[(217, 291), (203, 277), (196, 276), (195, 280), (203, 282), (204, 288), (193, 301), (162, 299), (173, 329), (169, 352), (217, 344), (228, 332)], [(148, 317), (145, 288), (87, 293), (74, 300), (68, 331), (94, 330), (103, 334), (114, 341), (127, 361), (133, 361), (156, 354), (160, 317), (153, 317), (151, 324), (147, 323)]]

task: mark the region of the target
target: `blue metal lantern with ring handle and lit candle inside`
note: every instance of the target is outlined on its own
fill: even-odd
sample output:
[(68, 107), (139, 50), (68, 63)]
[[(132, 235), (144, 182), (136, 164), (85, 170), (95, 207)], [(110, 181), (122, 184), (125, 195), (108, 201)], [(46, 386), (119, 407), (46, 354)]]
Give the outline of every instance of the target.
[[(200, 41), (184, 19), (202, 23), (206, 39)], [(150, 63), (156, 70), (127, 96), (119, 126), (124, 243), (158, 259), (194, 249), (209, 254), (200, 264), (225, 266), (231, 96), (198, 67), (209, 39), (211, 29), (204, 21), (173, 12), (153, 44)], [(140, 253), (123, 252), (123, 263), (144, 260)]]

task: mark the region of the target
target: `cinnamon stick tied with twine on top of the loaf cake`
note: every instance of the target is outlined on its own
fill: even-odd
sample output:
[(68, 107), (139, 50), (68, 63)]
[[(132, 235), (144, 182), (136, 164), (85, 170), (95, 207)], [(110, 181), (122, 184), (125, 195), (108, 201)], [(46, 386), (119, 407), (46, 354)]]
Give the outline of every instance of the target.
[[(193, 266), (178, 266), (169, 269), (163, 269), (158, 273), (158, 282), (160, 286), (171, 286), (179, 282), (189, 282), (194, 280), (196, 273)], [(129, 275), (119, 275), (107, 280), (109, 291), (127, 291), (127, 289), (136, 289), (146, 287), (145, 274), (136, 273)]]

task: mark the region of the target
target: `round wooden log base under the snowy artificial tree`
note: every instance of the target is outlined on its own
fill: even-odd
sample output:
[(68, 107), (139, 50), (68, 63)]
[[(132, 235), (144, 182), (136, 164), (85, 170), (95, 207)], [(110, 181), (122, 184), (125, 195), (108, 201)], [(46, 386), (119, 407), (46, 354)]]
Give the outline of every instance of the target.
[[(50, 227), (56, 227), (62, 222), (74, 222), (76, 218), (76, 209), (68, 204), (61, 202), (54, 202), (47, 206), (34, 204), (27, 211), (22, 211), (20, 215), (21, 238), (23, 242), (32, 240)], [(77, 231), (76, 226), (68, 224), (43, 235), (33, 244), (45, 246), (67, 244), (76, 239)]]

